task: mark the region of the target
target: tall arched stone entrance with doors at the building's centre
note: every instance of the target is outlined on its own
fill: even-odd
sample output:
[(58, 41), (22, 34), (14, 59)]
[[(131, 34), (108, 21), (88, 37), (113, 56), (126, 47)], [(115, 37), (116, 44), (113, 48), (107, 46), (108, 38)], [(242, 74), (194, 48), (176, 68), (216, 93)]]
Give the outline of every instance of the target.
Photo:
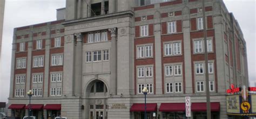
[[(106, 119), (108, 88), (102, 80), (93, 80), (86, 88), (90, 119)], [(88, 113), (87, 113), (88, 114)]]

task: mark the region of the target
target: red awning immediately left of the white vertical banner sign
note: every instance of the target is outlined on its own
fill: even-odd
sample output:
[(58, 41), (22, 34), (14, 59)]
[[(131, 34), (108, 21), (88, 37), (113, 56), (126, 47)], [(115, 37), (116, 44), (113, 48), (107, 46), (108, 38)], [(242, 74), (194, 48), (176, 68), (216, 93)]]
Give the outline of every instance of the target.
[(185, 111), (185, 103), (161, 103), (159, 111)]

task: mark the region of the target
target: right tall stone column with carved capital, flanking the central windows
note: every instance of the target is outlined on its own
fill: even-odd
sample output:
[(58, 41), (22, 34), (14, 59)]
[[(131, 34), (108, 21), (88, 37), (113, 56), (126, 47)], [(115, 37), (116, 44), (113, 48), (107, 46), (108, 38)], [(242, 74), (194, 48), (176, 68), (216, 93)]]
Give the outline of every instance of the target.
[(110, 49), (110, 94), (117, 94), (117, 28), (109, 28), (111, 33)]

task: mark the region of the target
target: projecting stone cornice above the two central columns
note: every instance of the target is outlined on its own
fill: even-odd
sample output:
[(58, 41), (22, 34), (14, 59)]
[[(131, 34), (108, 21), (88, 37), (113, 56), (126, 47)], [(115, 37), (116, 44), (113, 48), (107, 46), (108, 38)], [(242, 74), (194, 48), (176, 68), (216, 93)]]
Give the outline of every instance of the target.
[(90, 23), (95, 21), (103, 21), (103, 20), (117, 19), (117, 18), (123, 18), (123, 17), (132, 17), (133, 15), (134, 15), (133, 11), (123, 11), (123, 12), (117, 12), (117, 13), (111, 13), (111, 14), (104, 14), (104, 15), (95, 16), (95, 17), (64, 21), (62, 24), (64, 26), (72, 26), (72, 25), (85, 24), (85, 23)]

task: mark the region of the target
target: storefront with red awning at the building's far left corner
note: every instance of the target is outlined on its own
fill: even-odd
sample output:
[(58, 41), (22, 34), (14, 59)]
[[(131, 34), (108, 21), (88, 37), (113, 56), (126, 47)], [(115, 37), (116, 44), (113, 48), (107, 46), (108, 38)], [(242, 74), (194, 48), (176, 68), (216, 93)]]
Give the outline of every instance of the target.
[(25, 104), (11, 104), (8, 109), (11, 109), (11, 116), (17, 119), (25, 116), (25, 106)]

